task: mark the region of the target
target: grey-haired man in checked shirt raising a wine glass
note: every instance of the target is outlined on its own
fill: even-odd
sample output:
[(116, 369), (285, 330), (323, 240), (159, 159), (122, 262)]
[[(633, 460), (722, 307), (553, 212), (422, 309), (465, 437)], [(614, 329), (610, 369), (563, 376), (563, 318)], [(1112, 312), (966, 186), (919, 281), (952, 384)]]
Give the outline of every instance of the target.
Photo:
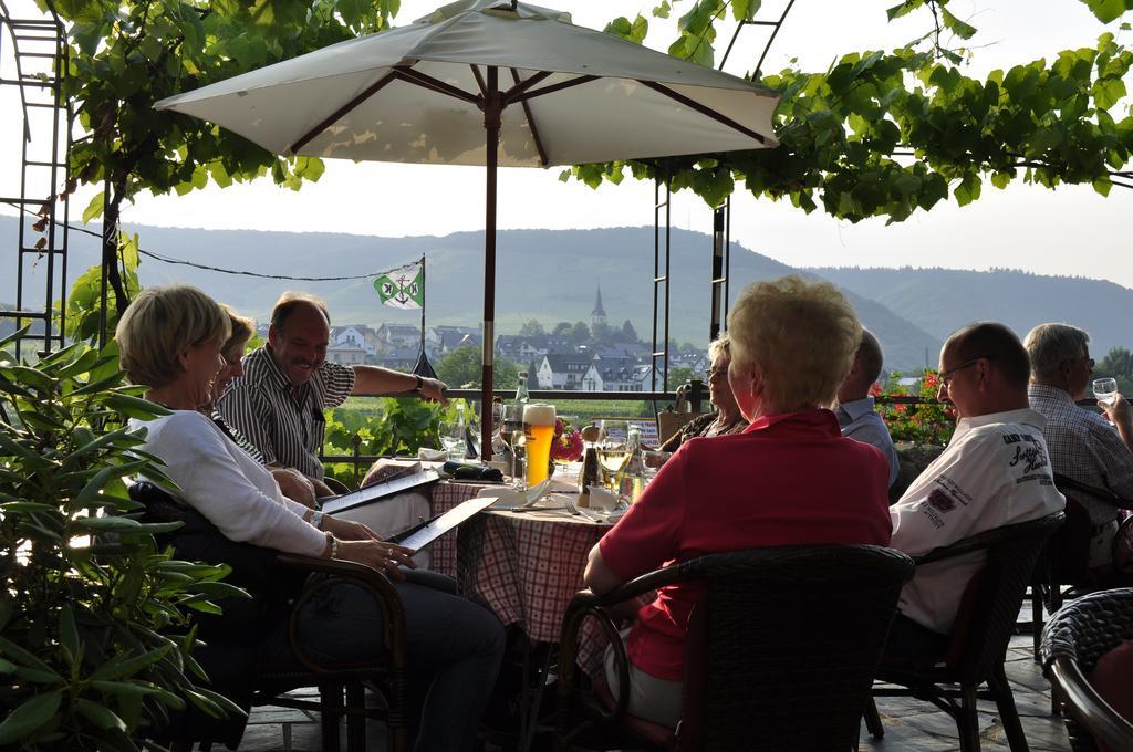
[[(1050, 461), (1060, 476), (1133, 498), (1133, 408), (1124, 396), (1099, 402), (1102, 417), (1077, 407), (1093, 375), (1090, 335), (1068, 324), (1039, 324), (1026, 335), (1031, 408), (1047, 419)], [(1107, 420), (1108, 418), (1108, 420)], [(1113, 504), (1075, 495), (1090, 515), (1089, 566), (1108, 564), (1119, 513)]]

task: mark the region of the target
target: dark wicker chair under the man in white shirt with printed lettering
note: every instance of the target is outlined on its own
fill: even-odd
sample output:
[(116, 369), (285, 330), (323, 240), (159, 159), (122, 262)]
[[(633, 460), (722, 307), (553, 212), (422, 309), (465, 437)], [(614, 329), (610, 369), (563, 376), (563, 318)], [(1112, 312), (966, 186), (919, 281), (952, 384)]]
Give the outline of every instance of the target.
[[(920, 566), (983, 550), (987, 564), (964, 593), (948, 650), (943, 656), (917, 661), (883, 659), (878, 681), (900, 686), (875, 687), (874, 697), (914, 697), (937, 706), (955, 719), (962, 752), (980, 749), (977, 698), (995, 700), (1012, 752), (1025, 752), (1026, 737), (1004, 672), (1004, 659), (1034, 563), (1064, 518), (1056, 512), (996, 528), (918, 557)], [(987, 691), (980, 691), (982, 684), (987, 684)], [(875, 738), (884, 735), (872, 702), (867, 708), (866, 723)]]

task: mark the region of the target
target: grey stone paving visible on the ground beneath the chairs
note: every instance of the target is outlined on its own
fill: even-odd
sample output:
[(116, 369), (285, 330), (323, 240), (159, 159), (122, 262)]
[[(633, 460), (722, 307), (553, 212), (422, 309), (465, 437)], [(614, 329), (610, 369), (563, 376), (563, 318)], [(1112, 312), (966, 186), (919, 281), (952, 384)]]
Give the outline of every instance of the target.
[[(1050, 687), (1031, 659), (1030, 635), (1012, 640), (1007, 653), (1007, 678), (1015, 693), (1015, 704), (1023, 720), (1026, 741), (1033, 752), (1068, 751), (1062, 719), (1050, 716)], [(862, 750), (889, 752), (939, 752), (957, 750), (956, 727), (934, 706), (917, 700), (886, 698), (878, 701), (885, 737), (875, 742), (862, 729)], [(982, 749), (1007, 750), (1007, 740), (994, 703), (980, 703)], [(346, 742), (343, 741), (343, 749)], [(284, 708), (257, 708), (253, 711), (240, 750), (316, 752), (321, 749), (318, 717)], [(385, 732), (370, 724), (369, 752), (384, 752)], [(550, 749), (546, 747), (546, 749)]]

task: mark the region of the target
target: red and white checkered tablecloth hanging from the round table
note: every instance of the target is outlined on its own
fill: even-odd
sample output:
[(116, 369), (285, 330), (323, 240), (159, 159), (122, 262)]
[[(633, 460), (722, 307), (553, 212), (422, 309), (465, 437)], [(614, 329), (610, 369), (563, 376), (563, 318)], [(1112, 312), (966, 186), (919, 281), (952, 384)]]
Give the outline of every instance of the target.
[[(433, 513), (482, 488), (435, 485)], [(433, 545), (433, 569), (455, 574), (461, 592), (486, 604), (505, 625), (521, 625), (534, 641), (557, 642), (566, 606), (585, 587), (587, 554), (607, 530), (610, 525), (561, 516), (486, 512), (462, 524), (455, 540), (445, 536)]]

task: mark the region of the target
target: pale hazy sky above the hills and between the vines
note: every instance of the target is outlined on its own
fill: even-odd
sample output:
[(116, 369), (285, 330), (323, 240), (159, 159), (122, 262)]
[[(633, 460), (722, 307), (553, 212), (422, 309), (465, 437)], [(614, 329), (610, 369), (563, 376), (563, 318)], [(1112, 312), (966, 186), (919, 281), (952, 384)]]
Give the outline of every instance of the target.
[[(825, 69), (838, 54), (893, 48), (927, 31), (925, 14), (886, 23), (885, 8), (896, 0), (798, 0), (775, 41), (765, 68), (776, 70), (798, 58), (807, 70)], [(576, 24), (600, 28), (617, 15), (648, 16), (655, 2), (641, 0), (557, 1)], [(403, 0), (397, 24), (406, 24), (438, 5), (435, 0)], [(542, 5), (542, 3), (537, 3)], [(678, 5), (678, 10), (689, 2)], [(777, 16), (782, 2), (764, 3), (765, 16)], [(948, 8), (976, 25), (980, 33), (969, 75), (1091, 44), (1113, 31), (1128, 43), (1131, 34), (1098, 23), (1077, 0), (953, 0)], [(769, 14), (767, 11), (775, 11)], [(674, 16), (675, 17), (675, 16)], [(661, 28), (665, 22), (650, 19)], [(722, 29), (723, 31), (723, 29)], [(726, 28), (731, 34), (731, 28)], [(726, 69), (743, 74), (755, 65), (766, 32), (747, 28)], [(723, 34), (722, 34), (723, 36)], [(671, 32), (654, 31), (647, 44), (663, 48)], [(724, 41), (717, 41), (722, 50)], [(1128, 82), (1133, 88), (1133, 80)], [(9, 145), (15, 111), (0, 102), (0, 181), (14, 170)], [(1124, 117), (1126, 112), (1116, 112)], [(484, 171), (480, 168), (406, 165), (327, 161), (317, 183), (292, 193), (270, 180), (258, 185), (210, 188), (188, 196), (142, 197), (123, 212), (128, 223), (216, 229), (340, 231), (375, 236), (446, 234), (484, 227)], [(653, 185), (631, 179), (595, 191), (581, 183), (563, 183), (560, 169), (501, 170), (499, 227), (598, 228), (653, 222)], [(10, 195), (10, 185), (0, 195)], [(76, 200), (82, 213), (90, 194)], [(1128, 210), (1133, 190), (1115, 188), (1102, 198), (1089, 187), (1057, 191), (1012, 186), (1005, 191), (985, 182), (982, 197), (960, 208), (954, 200), (919, 212), (904, 223), (884, 220), (857, 225), (819, 212), (809, 216), (786, 204), (756, 200), (738, 193), (733, 199), (732, 238), (784, 263), (798, 266), (1005, 266), (1046, 274), (1079, 274), (1108, 279), (1133, 288), (1133, 254), (1128, 253)], [(0, 211), (9, 212), (5, 207)], [(673, 224), (710, 232), (712, 214), (691, 194), (674, 199)], [(145, 239), (143, 238), (143, 247)], [(160, 249), (155, 249), (160, 250)], [(390, 259), (398, 262), (401, 259)], [(259, 271), (262, 259), (233, 258), (232, 265)], [(359, 273), (374, 259), (359, 259)], [(365, 268), (363, 268), (365, 267)]]

